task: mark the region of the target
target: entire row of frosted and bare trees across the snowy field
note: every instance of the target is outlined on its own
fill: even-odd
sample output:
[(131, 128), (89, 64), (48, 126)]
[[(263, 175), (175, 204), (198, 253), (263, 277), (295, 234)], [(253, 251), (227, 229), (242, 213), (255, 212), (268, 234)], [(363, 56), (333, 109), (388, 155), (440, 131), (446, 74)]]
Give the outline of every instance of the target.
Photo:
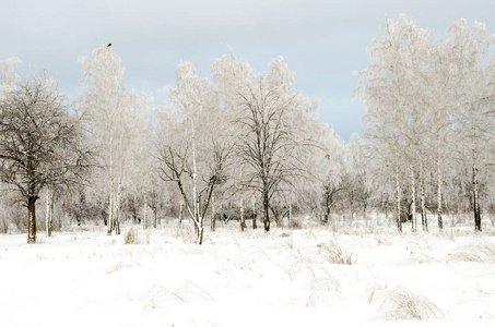
[(81, 60), (72, 101), (46, 73), (21, 77), (17, 59), (1, 61), (0, 228), (27, 229), (34, 243), (37, 227), (49, 235), (95, 221), (111, 234), (122, 220), (148, 228), (174, 217), (190, 219), (201, 244), (217, 220), (268, 232), (294, 214), (328, 223), (386, 213), (399, 230), (406, 220), (416, 230), (420, 217), (427, 230), (428, 213), (441, 229), (448, 211), (474, 213), (481, 230), (495, 204), (494, 38), (480, 23), (450, 32), (433, 44), (412, 21), (387, 21), (358, 73), (365, 134), (347, 143), (316, 120), (317, 101), (293, 89), (281, 57), (256, 72), (225, 56), (211, 78), (182, 60), (160, 107), (128, 89), (110, 46)]

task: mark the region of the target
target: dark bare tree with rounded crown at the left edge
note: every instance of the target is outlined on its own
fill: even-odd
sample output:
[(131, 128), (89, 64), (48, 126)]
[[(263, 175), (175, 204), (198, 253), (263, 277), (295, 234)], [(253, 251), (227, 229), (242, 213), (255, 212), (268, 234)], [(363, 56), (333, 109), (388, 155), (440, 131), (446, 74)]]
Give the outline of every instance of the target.
[(36, 201), (45, 186), (70, 185), (89, 168), (81, 125), (52, 81), (24, 81), (0, 101), (0, 180), (28, 210), (27, 242), (36, 243)]

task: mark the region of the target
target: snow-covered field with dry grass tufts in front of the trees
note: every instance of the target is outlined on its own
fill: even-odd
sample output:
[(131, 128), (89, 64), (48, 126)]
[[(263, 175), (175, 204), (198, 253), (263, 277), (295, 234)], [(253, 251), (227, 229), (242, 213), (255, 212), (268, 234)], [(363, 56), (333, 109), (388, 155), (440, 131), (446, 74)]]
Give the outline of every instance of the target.
[[(129, 229), (139, 244), (125, 244)], [(0, 234), (0, 326), (495, 326), (492, 231), (232, 223), (205, 237), (190, 244), (172, 223), (36, 245)]]

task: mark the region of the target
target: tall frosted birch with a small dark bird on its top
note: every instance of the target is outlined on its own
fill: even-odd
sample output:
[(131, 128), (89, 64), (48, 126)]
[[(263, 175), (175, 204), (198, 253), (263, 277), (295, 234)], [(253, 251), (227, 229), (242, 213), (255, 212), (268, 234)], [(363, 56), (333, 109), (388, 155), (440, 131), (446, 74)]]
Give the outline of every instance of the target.
[(129, 189), (132, 165), (139, 152), (139, 135), (146, 119), (146, 99), (127, 90), (125, 69), (114, 47), (102, 46), (93, 50), (92, 58), (82, 58), (84, 89), (82, 112), (90, 121), (89, 131), (93, 145), (99, 150), (99, 171), (96, 184), (105, 190), (108, 198), (107, 233), (119, 229), (120, 202), (126, 186)]

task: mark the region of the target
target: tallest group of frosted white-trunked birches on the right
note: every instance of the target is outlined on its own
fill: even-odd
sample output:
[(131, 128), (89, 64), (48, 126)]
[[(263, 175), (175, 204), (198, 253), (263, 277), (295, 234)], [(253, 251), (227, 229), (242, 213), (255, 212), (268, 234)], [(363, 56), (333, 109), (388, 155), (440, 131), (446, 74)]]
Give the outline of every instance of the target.
[[(356, 93), (364, 118), (372, 173), (394, 187), (397, 215), (471, 210), (475, 230), (493, 205), (495, 36), (465, 20), (436, 44), (432, 35), (401, 17), (368, 48), (373, 64), (358, 73)], [(390, 192), (389, 192), (390, 193)], [(399, 220), (399, 229), (401, 229)], [(413, 230), (416, 229), (413, 219)]]

